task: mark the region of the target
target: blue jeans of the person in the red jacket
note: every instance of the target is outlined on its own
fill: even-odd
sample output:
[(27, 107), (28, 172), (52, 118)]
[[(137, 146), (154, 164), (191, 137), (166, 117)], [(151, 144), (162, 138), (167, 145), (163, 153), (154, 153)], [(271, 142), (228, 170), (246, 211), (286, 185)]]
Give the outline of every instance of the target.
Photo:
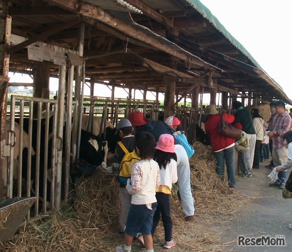
[(224, 160), (227, 168), (228, 182), (230, 187), (235, 186), (235, 172), (234, 172), (234, 146), (220, 152), (214, 152), (217, 160), (216, 173), (221, 179), (224, 179)]

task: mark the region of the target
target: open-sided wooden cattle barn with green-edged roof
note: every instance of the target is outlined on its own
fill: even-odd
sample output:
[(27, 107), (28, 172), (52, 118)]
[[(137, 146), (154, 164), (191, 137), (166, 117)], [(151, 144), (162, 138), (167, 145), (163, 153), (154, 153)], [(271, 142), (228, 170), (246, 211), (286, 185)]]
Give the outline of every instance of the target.
[[(210, 94), (214, 104), (219, 97), (222, 111), (230, 111), (236, 99), (253, 106), (278, 99), (292, 104), (199, 0), (2, 0), (0, 13), (0, 167), (5, 168), (0, 171), (0, 198), (12, 197), (7, 117), (13, 131), (15, 117), (40, 120), (45, 110), (49, 122), (49, 112), (54, 112), (52, 200), (59, 210), (60, 182), (65, 181), (66, 197), (71, 158), (78, 157), (83, 112), (92, 120), (99, 111), (104, 129), (106, 121), (115, 125), (133, 110), (149, 112), (151, 119), (157, 119), (159, 111), (165, 117), (177, 113), (192, 142), (204, 94)], [(8, 87), (23, 85), (9, 82), (8, 72), (31, 76), (33, 83), (26, 86), (33, 86), (33, 97), (8, 101)], [(50, 77), (59, 79), (56, 99), (49, 99)], [(109, 86), (112, 96), (94, 97), (95, 83)], [(85, 85), (91, 88), (89, 97), (84, 96)], [(114, 97), (115, 88), (127, 90), (128, 98)], [(144, 99), (132, 97), (132, 90), (141, 91)], [(157, 98), (147, 100), (147, 92)], [(191, 107), (178, 106), (186, 98)]]

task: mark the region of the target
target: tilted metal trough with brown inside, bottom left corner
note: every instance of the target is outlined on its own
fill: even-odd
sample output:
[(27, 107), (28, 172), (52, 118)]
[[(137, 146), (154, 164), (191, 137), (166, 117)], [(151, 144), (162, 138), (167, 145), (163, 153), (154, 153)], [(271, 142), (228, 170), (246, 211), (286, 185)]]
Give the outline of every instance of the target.
[(0, 199), (0, 242), (13, 237), (36, 198)]

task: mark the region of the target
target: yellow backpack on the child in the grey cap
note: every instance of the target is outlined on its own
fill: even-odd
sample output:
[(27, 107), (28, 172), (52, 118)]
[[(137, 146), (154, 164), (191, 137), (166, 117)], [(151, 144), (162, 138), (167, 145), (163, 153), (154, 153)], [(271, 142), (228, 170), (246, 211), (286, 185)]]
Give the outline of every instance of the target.
[(131, 178), (132, 166), (135, 162), (140, 160), (140, 157), (137, 155), (135, 150), (129, 152), (121, 141), (118, 142), (118, 145), (125, 153), (118, 171), (118, 178), (121, 184), (127, 185), (128, 178)]

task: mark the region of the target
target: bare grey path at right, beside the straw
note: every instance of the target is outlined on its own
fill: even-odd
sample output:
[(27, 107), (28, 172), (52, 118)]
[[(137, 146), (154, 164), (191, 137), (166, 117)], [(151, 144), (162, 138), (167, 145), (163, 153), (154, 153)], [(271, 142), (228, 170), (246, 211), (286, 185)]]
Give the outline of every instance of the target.
[[(226, 251), (238, 252), (291, 252), (292, 199), (284, 199), (282, 190), (269, 186), (267, 177), (272, 170), (261, 163), (260, 169), (253, 171), (251, 178), (237, 177), (236, 191), (247, 196), (255, 196), (238, 216), (231, 220), (230, 227), (220, 229), (221, 242), (229, 243)], [(285, 236), (286, 246), (238, 246), (237, 237), (257, 238), (261, 236)]]

